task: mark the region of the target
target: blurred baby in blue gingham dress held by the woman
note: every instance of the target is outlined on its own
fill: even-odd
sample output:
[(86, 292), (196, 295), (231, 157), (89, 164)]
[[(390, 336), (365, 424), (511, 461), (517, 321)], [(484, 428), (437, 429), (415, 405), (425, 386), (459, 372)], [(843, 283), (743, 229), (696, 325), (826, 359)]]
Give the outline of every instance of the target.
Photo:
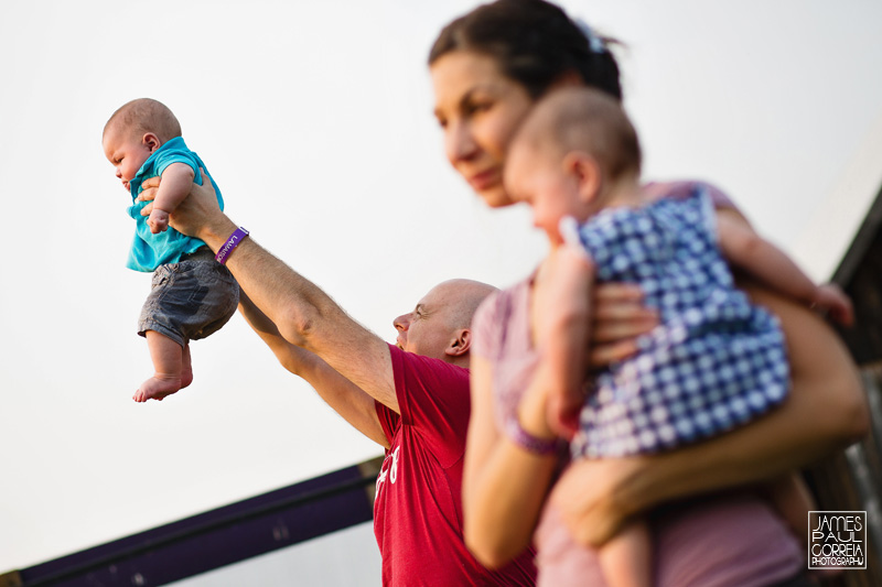
[[(559, 336), (535, 340), (560, 357), (546, 381), (549, 426), (570, 441), (573, 458), (674, 449), (746, 424), (785, 400), (784, 335), (774, 316), (735, 289), (729, 264), (851, 319), (841, 291), (817, 286), (743, 219), (718, 215), (707, 185), (654, 200), (639, 185), (639, 165), (636, 132), (621, 106), (589, 88), (544, 98), (508, 154), (508, 194), (533, 207), (552, 248), (582, 257), (581, 275), (557, 274), (566, 281), (560, 285), (551, 280), (564, 292), (555, 300), (584, 298), (593, 281), (637, 283), (659, 315), (634, 357), (587, 384), (580, 373), (588, 320), (561, 320)], [(552, 322), (555, 312), (566, 314), (540, 309)], [(529, 450), (549, 442), (531, 437), (514, 414), (506, 431), (515, 443)], [(770, 483), (770, 494), (792, 528), (805, 533), (810, 497), (802, 481), (794, 475)], [(646, 525), (635, 522), (598, 555), (610, 585), (648, 586), (650, 552)]]

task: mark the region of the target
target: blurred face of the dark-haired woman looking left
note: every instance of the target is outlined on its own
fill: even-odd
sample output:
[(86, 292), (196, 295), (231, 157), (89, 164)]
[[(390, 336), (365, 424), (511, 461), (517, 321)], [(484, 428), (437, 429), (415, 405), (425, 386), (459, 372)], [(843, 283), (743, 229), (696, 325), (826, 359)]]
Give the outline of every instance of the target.
[(488, 206), (513, 204), (503, 186), (503, 166), (533, 98), (499, 72), (493, 57), (480, 53), (453, 51), (430, 72), (450, 164)]

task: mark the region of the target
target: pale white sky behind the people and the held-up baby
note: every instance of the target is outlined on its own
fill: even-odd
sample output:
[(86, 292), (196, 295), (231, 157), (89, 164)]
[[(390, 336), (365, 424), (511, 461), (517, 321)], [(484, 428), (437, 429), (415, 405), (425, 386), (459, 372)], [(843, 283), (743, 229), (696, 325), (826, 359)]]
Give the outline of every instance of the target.
[[(437, 282), (506, 285), (544, 252), (525, 210), (485, 210), (449, 169), (431, 117), (428, 48), (474, 4), (3, 2), (0, 572), (379, 454), (239, 317), (194, 344), (190, 389), (132, 402), (150, 278), (123, 267), (129, 197), (100, 132), (129, 99), (165, 102), (234, 220), (391, 340)], [(796, 243), (841, 251), (869, 205), (831, 198), (879, 144), (882, 4), (563, 4), (628, 45), (647, 177), (716, 182), (829, 274)]]

